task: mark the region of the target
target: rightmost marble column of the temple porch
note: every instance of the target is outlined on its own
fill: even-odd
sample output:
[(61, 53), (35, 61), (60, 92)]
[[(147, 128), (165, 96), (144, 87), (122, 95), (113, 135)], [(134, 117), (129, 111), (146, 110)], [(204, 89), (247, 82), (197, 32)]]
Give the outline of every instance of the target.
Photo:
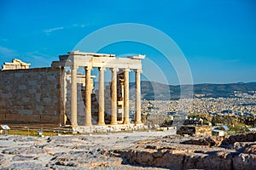
[(136, 117), (135, 124), (142, 123), (142, 106), (141, 106), (141, 72), (142, 70), (135, 71), (136, 77)]

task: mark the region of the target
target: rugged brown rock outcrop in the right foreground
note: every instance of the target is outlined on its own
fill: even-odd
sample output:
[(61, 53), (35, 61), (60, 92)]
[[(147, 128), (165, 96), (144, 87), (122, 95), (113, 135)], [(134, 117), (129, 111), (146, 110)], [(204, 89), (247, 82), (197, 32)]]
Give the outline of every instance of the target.
[(149, 167), (256, 169), (255, 136), (256, 133), (246, 133), (226, 137), (190, 138), (180, 144), (174, 144), (173, 139), (158, 139), (150, 143), (137, 143), (134, 149), (124, 150), (121, 156), (132, 164)]

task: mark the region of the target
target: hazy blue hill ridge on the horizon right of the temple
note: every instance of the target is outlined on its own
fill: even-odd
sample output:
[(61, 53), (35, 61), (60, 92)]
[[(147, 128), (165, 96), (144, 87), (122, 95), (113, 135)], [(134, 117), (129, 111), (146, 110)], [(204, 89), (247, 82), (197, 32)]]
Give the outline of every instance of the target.
[[(135, 82), (130, 83), (131, 87), (131, 98), (135, 97)], [(195, 84), (182, 85), (182, 86), (172, 86), (166, 85), (159, 82), (141, 82), (142, 87), (142, 99), (180, 99), (181, 92), (183, 92), (182, 97), (187, 98), (191, 94), (196, 97), (233, 97), (234, 92), (239, 93), (249, 93), (250, 91), (256, 91), (256, 82), (238, 82), (230, 84)]]

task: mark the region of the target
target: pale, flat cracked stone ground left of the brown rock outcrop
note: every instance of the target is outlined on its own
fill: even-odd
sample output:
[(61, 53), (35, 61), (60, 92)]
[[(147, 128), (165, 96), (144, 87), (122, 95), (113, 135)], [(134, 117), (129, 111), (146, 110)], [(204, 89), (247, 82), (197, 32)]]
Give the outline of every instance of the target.
[[(112, 150), (166, 133), (106, 133), (52, 137), (0, 136), (0, 169), (155, 169), (131, 165)], [(161, 169), (161, 168), (157, 168)]]

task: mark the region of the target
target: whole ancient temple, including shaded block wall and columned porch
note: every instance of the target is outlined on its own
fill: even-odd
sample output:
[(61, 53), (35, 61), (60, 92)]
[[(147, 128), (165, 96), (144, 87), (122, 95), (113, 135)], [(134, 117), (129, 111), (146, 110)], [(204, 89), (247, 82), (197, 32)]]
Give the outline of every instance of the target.
[[(0, 122), (45, 123), (70, 127), (140, 126), (142, 59), (79, 51), (59, 56), (48, 68), (19, 59), (0, 71)], [(98, 88), (91, 71), (98, 70)], [(81, 71), (82, 70), (82, 71)], [(111, 71), (111, 82), (105, 72)], [(136, 110), (131, 123), (129, 72), (135, 74)]]

